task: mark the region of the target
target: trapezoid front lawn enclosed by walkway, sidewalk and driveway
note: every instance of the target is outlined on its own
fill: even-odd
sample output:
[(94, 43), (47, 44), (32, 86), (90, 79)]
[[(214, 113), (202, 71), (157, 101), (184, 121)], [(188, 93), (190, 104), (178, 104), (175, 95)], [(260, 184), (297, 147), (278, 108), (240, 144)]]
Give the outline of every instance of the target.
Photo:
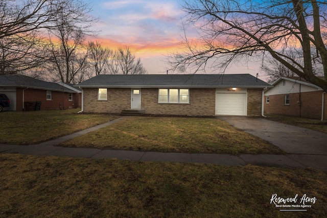
[(283, 153), (270, 143), (216, 118), (129, 117), (60, 145), (232, 155)]

